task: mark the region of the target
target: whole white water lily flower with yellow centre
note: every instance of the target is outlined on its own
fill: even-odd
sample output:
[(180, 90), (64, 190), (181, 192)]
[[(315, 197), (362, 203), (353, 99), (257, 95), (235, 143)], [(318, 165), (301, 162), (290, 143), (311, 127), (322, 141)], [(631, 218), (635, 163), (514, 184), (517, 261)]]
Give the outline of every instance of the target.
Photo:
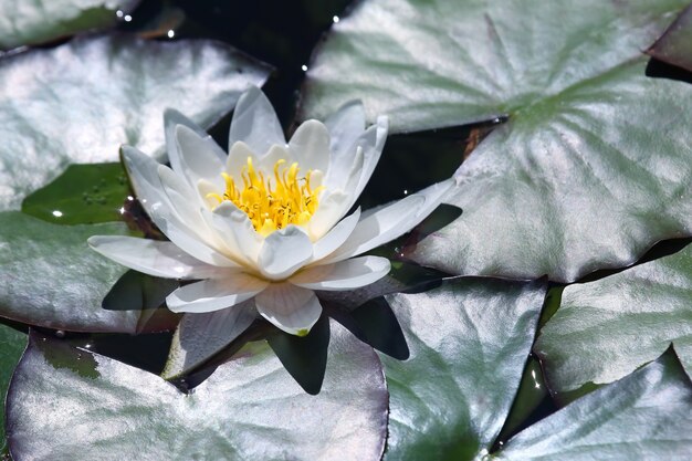
[(95, 235), (88, 243), (136, 271), (196, 280), (166, 298), (174, 312), (208, 313), (254, 298), (269, 322), (305, 335), (322, 313), (314, 291), (357, 289), (385, 276), (386, 258), (353, 256), (409, 231), (452, 185), (345, 217), (388, 129), (386, 117), (365, 129), (360, 103), (324, 124), (303, 123), (286, 144), (270, 102), (251, 88), (233, 113), (228, 156), (179, 113), (168, 111), (165, 121), (171, 168), (129, 146), (122, 158), (139, 201), (170, 241)]

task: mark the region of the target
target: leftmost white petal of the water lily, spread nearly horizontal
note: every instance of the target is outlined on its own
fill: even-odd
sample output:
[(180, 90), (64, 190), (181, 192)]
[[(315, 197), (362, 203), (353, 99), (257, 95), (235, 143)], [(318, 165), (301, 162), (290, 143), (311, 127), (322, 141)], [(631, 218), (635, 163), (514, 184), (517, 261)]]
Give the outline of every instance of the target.
[(118, 264), (154, 276), (193, 280), (228, 273), (228, 270), (190, 256), (171, 242), (124, 235), (94, 235), (87, 242), (92, 249)]

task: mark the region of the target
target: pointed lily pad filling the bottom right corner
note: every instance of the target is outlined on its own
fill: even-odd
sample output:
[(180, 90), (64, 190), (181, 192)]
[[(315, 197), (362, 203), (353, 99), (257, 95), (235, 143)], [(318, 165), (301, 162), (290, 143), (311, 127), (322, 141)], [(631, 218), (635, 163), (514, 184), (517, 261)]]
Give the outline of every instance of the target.
[(689, 460), (692, 384), (673, 350), (510, 439), (494, 460)]

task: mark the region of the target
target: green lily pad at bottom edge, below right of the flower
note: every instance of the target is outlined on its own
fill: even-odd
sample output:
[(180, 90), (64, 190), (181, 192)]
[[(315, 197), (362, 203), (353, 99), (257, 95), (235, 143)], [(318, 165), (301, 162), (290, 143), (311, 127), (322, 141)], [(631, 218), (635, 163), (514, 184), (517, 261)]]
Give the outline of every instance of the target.
[(458, 279), (387, 296), (410, 358), (381, 356), (390, 394), (386, 460), (471, 460), (487, 452), (516, 395), (544, 282)]

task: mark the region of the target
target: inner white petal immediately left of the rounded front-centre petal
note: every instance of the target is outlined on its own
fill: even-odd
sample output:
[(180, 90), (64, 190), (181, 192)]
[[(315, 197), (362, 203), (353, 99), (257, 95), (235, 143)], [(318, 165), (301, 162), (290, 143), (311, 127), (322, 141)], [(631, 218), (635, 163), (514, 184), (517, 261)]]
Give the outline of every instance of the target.
[(255, 232), (248, 214), (226, 200), (211, 212), (211, 223), (229, 251), (245, 264), (256, 268), (264, 239)]

